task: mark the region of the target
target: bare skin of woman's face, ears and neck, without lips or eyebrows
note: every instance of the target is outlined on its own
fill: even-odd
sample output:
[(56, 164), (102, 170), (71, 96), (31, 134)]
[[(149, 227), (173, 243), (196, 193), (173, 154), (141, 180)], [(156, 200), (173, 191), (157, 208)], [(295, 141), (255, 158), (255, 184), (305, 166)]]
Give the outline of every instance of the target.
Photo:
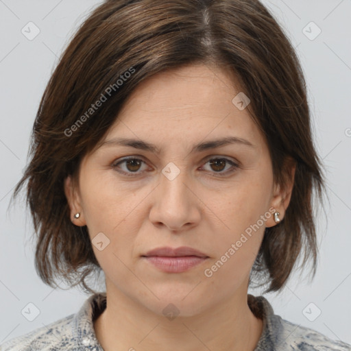
[[(262, 321), (247, 306), (247, 285), (265, 227), (276, 225), (273, 215), (213, 276), (204, 274), (269, 208), (282, 220), (291, 196), (292, 184), (274, 184), (267, 143), (247, 109), (232, 104), (241, 92), (234, 82), (228, 71), (204, 64), (145, 80), (104, 141), (141, 139), (160, 154), (107, 144), (83, 159), (76, 186), (66, 178), (73, 223), (86, 225), (90, 239), (103, 232), (110, 240), (102, 251), (93, 245), (106, 276), (108, 304), (94, 325), (105, 351), (254, 350), (261, 336)], [(224, 136), (254, 147), (238, 143), (191, 152), (196, 143)], [(125, 156), (143, 162), (116, 166)], [(211, 166), (215, 157), (239, 167), (220, 161)], [(162, 173), (169, 162), (180, 171), (173, 180)], [(208, 259), (166, 273), (141, 257), (156, 247), (183, 245)], [(179, 311), (173, 320), (162, 313), (170, 303)]]

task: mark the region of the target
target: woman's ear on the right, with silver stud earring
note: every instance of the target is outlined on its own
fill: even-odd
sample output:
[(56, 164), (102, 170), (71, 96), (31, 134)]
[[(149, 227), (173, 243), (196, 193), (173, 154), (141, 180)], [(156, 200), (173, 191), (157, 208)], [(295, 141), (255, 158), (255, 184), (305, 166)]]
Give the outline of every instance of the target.
[[(282, 219), (285, 216), (285, 212), (289, 206), (291, 194), (293, 193), (293, 184), (295, 180), (295, 171), (296, 171), (296, 161), (293, 160), (290, 156), (285, 159), (283, 167), (285, 168), (285, 182), (284, 186), (281, 184), (274, 184), (274, 191), (271, 198), (270, 207), (275, 209), (274, 212), (279, 213), (279, 219)], [(266, 227), (276, 226), (276, 221), (274, 221), (274, 213), (271, 214), (271, 217), (266, 221)]]

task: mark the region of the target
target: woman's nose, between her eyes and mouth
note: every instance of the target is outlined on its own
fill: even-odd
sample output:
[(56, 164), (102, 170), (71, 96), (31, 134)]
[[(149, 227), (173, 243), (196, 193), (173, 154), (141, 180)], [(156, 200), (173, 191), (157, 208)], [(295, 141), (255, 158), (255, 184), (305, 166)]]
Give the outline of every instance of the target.
[(163, 173), (156, 187), (149, 219), (155, 226), (166, 226), (173, 232), (189, 230), (201, 219), (201, 200), (186, 171), (170, 180)]

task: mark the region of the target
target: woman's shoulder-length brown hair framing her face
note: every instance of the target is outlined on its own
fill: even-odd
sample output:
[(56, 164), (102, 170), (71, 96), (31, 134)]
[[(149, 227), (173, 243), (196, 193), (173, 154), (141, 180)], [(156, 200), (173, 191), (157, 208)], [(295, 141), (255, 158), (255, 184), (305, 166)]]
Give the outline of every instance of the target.
[[(101, 267), (86, 226), (71, 222), (64, 179), (73, 175), (77, 181), (83, 156), (101, 141), (141, 81), (193, 63), (221, 65), (236, 75), (267, 140), (278, 184), (285, 186), (289, 177), (287, 158), (296, 162), (285, 218), (265, 229), (252, 274), (267, 277), (266, 291), (279, 291), (304, 251), (302, 265), (313, 258), (315, 275), (313, 192), (322, 200), (324, 177), (302, 68), (274, 17), (258, 0), (108, 0), (62, 53), (36, 114), (31, 160), (12, 198), (27, 181), (35, 265), (43, 282), (53, 286), (57, 276), (95, 292), (85, 280)], [(95, 101), (103, 103), (95, 108)]]

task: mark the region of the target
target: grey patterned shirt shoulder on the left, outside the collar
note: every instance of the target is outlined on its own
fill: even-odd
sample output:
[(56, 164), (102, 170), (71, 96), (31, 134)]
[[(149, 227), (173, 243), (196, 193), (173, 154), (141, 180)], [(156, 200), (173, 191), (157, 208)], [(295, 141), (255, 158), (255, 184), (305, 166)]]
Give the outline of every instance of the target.
[(70, 350), (74, 346), (72, 337), (73, 315), (58, 319), (47, 326), (14, 337), (0, 345), (1, 351), (49, 351)]

